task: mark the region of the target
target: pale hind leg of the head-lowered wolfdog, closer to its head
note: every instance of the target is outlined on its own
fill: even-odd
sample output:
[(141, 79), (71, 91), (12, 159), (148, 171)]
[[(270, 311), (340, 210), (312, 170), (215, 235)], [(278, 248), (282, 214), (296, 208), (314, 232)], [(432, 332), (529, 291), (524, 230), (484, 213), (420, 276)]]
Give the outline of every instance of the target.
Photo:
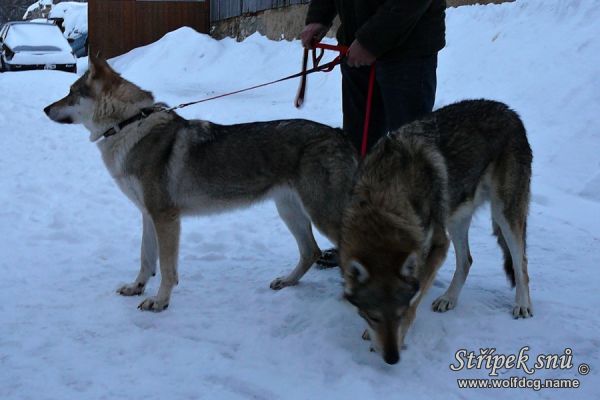
[(466, 214), (460, 216), (460, 218), (450, 221), (448, 224), (448, 231), (452, 244), (454, 245), (454, 252), (456, 253), (456, 270), (452, 277), (452, 282), (446, 290), (446, 293), (438, 297), (432, 304), (433, 311), (446, 312), (452, 310), (458, 302), (458, 296), (460, 291), (465, 284), (467, 275), (473, 259), (471, 258), (471, 252), (469, 250), (469, 226), (471, 225), (472, 212), (469, 211)]

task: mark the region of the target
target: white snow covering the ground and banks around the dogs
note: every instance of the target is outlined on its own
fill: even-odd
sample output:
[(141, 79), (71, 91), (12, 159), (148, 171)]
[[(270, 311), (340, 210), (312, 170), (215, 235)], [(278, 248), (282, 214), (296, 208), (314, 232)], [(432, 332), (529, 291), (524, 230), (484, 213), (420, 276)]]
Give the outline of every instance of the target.
[[(310, 271), (273, 292), (297, 250), (271, 204), (189, 219), (180, 284), (160, 314), (115, 294), (135, 277), (140, 216), (118, 191), (82, 127), (42, 108), (74, 75), (0, 75), (1, 399), (600, 398), (600, 8), (593, 0), (518, 0), (448, 11), (436, 106), (487, 97), (523, 117), (534, 150), (529, 271), (535, 317), (513, 320), (514, 292), (487, 211), (471, 230), (475, 263), (460, 304), (430, 303), (448, 286), (448, 256), (396, 366), (360, 338), (337, 270)], [(214, 41), (182, 29), (113, 60), (157, 99), (176, 104), (295, 72), (297, 42)], [(339, 125), (337, 72), (185, 109), (221, 123), (310, 118)], [(243, 150), (242, 150), (243, 151)], [(325, 240), (320, 240), (327, 246)], [(154, 279), (147, 293), (158, 287)], [(459, 349), (530, 355), (573, 349), (574, 367), (532, 378), (577, 378), (579, 389), (457, 388)], [(579, 375), (587, 363), (591, 372)], [(523, 376), (503, 370), (500, 377)]]

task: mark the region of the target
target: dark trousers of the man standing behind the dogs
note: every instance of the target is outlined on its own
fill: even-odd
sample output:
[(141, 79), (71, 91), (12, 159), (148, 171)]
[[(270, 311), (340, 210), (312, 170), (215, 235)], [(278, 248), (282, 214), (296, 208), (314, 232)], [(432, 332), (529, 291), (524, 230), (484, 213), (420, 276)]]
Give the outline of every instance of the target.
[[(370, 67), (342, 63), (344, 132), (360, 151)], [(437, 54), (407, 60), (377, 61), (367, 149), (390, 131), (433, 110)]]

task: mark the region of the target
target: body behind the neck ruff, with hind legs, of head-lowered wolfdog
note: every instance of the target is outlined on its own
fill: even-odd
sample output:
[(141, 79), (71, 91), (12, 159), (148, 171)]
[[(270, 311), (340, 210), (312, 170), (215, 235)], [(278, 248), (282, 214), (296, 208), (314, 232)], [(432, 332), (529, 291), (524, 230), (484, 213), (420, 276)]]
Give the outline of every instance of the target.
[(443, 107), (395, 135), (420, 135), (435, 144), (448, 168), (448, 230), (457, 270), (435, 311), (455, 307), (473, 258), (468, 230), (476, 209), (491, 203), (492, 227), (504, 254), (504, 269), (516, 286), (515, 318), (532, 315), (526, 235), (532, 151), (516, 112), (491, 100), (466, 100)]

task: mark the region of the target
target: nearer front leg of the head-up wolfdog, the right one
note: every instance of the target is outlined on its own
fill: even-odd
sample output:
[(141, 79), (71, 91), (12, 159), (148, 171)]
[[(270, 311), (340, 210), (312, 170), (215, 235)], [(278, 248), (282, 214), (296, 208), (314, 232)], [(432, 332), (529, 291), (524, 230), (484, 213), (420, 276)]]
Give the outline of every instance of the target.
[(158, 254), (160, 259), (160, 287), (154, 297), (148, 297), (139, 305), (144, 311), (159, 312), (169, 306), (169, 299), (173, 287), (178, 283), (177, 258), (179, 254), (179, 235), (181, 220), (179, 212), (170, 210), (153, 216), (156, 238), (158, 240)]

